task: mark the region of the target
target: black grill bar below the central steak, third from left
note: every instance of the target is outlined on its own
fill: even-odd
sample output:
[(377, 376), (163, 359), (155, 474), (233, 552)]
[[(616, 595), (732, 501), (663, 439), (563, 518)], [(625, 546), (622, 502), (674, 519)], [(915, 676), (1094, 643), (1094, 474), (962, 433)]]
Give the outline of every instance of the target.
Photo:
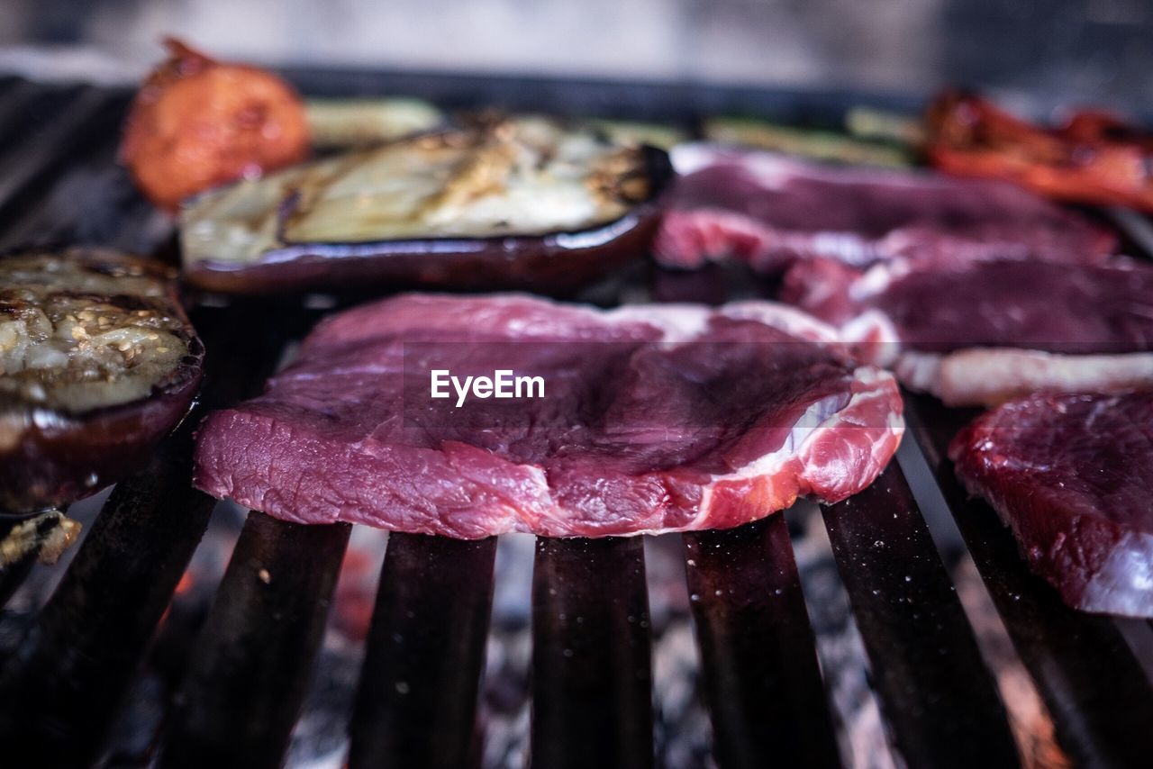
[(390, 535), (349, 729), (353, 769), (478, 766), (496, 545)]

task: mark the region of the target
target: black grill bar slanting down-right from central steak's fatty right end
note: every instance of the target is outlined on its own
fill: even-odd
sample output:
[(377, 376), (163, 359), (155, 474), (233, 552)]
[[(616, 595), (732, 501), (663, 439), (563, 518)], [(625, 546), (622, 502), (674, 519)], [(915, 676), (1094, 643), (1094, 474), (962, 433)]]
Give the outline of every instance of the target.
[(909, 766), (1019, 766), (996, 685), (897, 463), (822, 512)]

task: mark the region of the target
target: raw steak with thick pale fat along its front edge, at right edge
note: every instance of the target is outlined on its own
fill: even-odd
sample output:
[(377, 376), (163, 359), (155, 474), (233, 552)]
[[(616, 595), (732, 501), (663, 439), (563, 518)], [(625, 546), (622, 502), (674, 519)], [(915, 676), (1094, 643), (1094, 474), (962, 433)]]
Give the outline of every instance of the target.
[(784, 296), (861, 360), (952, 406), (1153, 387), (1153, 267), (1043, 262), (797, 264)]

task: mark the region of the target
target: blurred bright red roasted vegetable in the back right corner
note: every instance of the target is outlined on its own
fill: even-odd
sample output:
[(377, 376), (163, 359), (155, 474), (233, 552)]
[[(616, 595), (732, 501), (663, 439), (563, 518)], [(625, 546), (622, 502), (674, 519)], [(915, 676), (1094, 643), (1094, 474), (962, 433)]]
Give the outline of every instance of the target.
[(926, 152), (942, 171), (1016, 182), (1058, 201), (1153, 211), (1153, 135), (1080, 112), (1042, 128), (975, 96), (949, 91), (929, 107)]

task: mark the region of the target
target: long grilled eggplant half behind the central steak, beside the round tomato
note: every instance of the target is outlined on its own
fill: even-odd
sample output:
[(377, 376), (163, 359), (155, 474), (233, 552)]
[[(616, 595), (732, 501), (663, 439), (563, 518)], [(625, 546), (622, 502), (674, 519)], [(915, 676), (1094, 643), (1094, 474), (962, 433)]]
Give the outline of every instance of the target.
[(225, 293), (563, 292), (646, 251), (671, 173), (661, 150), (547, 119), (425, 134), (202, 195), (184, 273)]

